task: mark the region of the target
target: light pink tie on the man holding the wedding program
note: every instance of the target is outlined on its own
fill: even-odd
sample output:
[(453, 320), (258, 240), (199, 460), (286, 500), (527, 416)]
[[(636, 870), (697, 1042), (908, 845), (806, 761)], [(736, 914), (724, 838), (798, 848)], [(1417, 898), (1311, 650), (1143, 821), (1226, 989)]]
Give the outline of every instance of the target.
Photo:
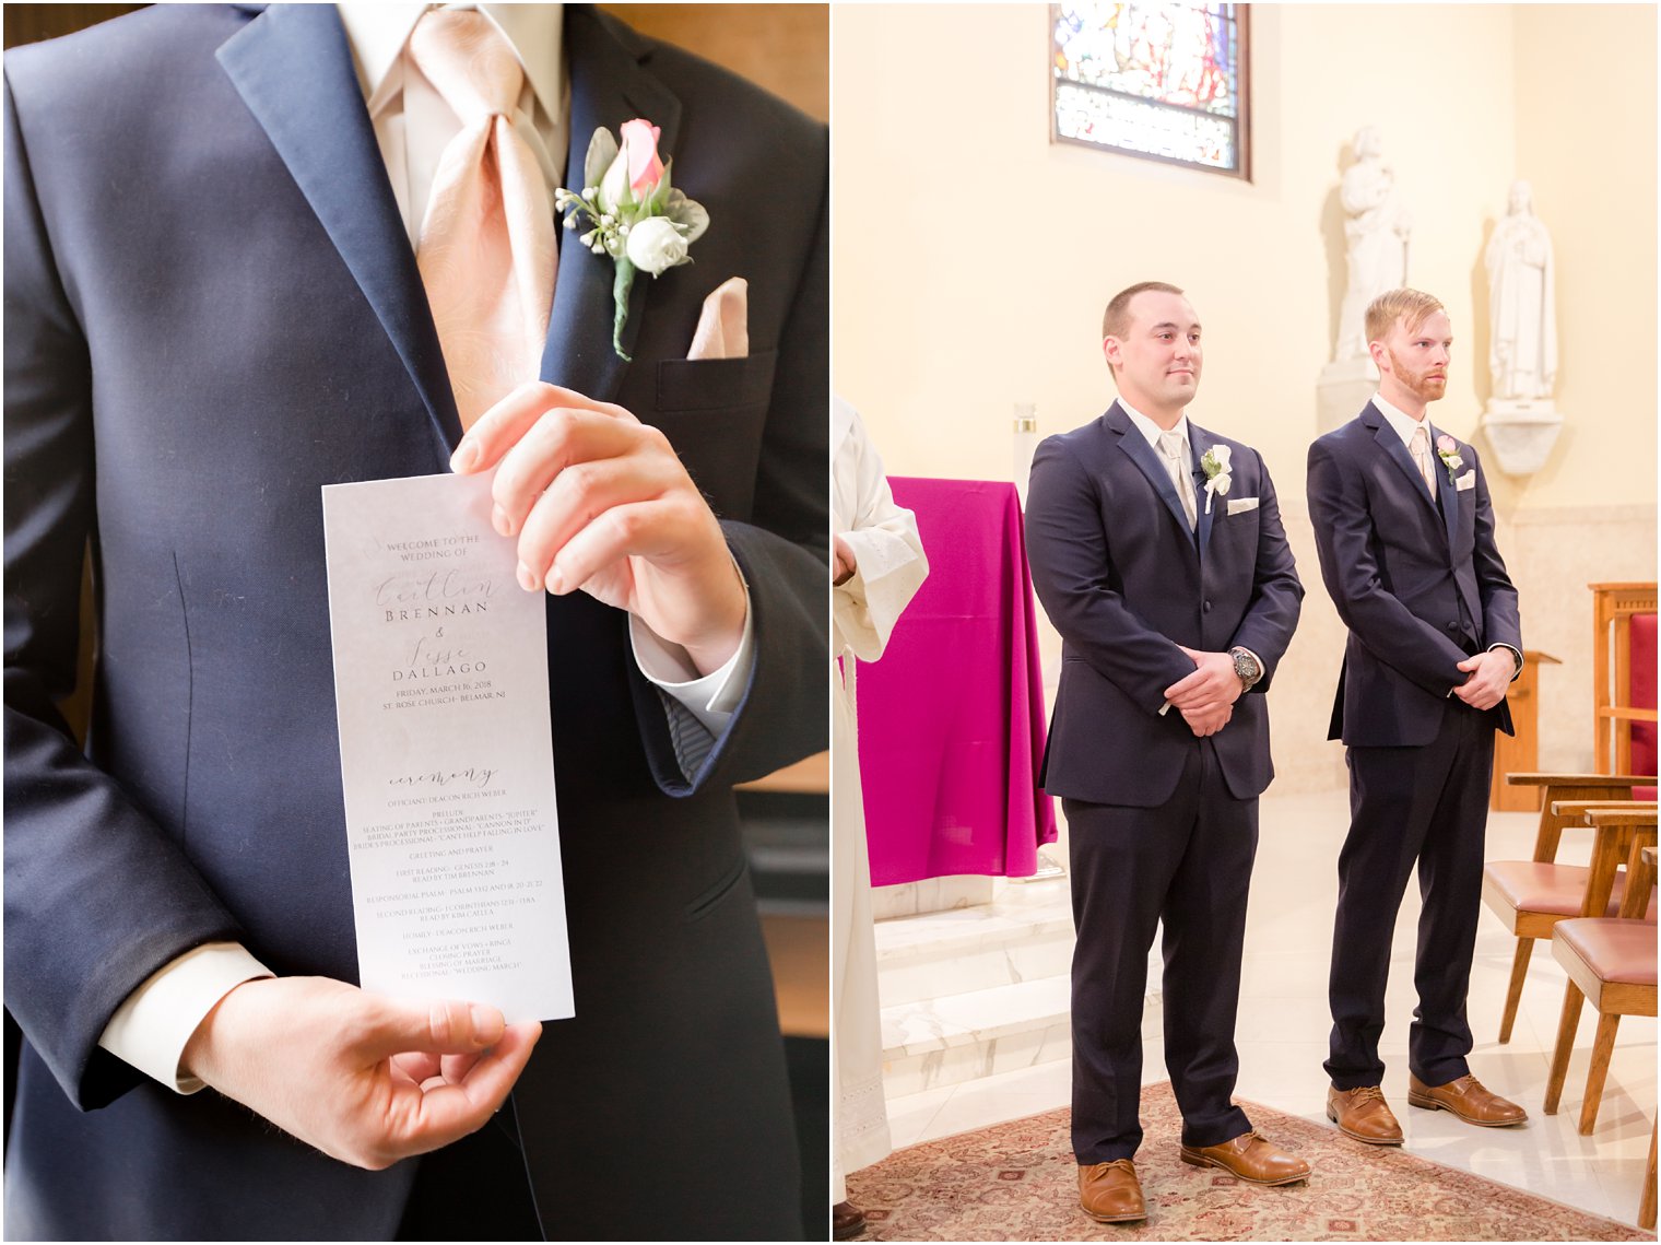
[(537, 379), (558, 263), (553, 204), (513, 131), (525, 70), (490, 18), (430, 12), (410, 58), (462, 121), (439, 158), (417, 263), (465, 429)]

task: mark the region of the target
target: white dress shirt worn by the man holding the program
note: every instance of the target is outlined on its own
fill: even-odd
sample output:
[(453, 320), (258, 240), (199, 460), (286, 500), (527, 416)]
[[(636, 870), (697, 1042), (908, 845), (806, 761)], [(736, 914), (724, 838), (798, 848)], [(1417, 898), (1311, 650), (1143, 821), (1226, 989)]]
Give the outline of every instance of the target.
[[(375, 141), (412, 246), (420, 241), (420, 223), (439, 158), (462, 128), (460, 120), (407, 55), (410, 32), (429, 7), (409, 0), (339, 5)], [(477, 8), (503, 33), (525, 68), (513, 126), (537, 156), (551, 199), (553, 189), (565, 178), (571, 145), (561, 7), (508, 3)], [(585, 138), (583, 143), (586, 141)], [(583, 261), (600, 263), (600, 258), (580, 254), (578, 263)], [(754, 665), (749, 585), (744, 587), (744, 633), (739, 648), (724, 667), (709, 675), (699, 675), (684, 648), (661, 638), (635, 615), (630, 615), (630, 643), (641, 673), (671, 696), (674, 706), (684, 706), (713, 741), (731, 721)], [(668, 703), (664, 710), (671, 718), (676, 713)], [(698, 731), (698, 726), (691, 726), (691, 731)], [(688, 753), (708, 753), (708, 741), (701, 750), (683, 751), (679, 740), (684, 731), (671, 730), (671, 735), (678, 740), (683, 766)], [(194, 947), (135, 989), (110, 1017), (98, 1044), (161, 1084), (193, 1094), (203, 1082), (179, 1074), (179, 1060), (191, 1034), (231, 989), (244, 981), (271, 976), (276, 974), (239, 942)]]

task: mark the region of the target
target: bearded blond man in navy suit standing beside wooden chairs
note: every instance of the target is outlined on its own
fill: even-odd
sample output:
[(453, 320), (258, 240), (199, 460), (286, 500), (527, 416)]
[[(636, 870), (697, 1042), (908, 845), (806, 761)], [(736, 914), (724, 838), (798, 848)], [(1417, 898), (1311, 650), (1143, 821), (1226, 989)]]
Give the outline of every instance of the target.
[(1367, 308), (1367, 339), (1377, 397), (1309, 447), (1320, 575), (1349, 627), (1329, 733), (1349, 746), (1350, 829), (1332, 933), (1327, 1115), (1355, 1140), (1400, 1145), (1379, 1036), (1390, 931), (1415, 863), (1423, 914), (1407, 1100), (1485, 1127), (1526, 1119), (1465, 1064), (1493, 731), (1512, 733), (1505, 688), (1521, 673), (1523, 640), (1477, 450), (1427, 416), (1447, 392), (1447, 312), (1430, 294), (1392, 289)]

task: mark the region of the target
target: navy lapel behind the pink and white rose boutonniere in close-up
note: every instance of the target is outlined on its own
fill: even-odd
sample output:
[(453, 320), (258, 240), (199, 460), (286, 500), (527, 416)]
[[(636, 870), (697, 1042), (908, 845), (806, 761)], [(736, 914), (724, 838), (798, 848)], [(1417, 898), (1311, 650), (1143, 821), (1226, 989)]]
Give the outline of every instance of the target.
[[(586, 5), (570, 5), (565, 10), (565, 48), (571, 76), (566, 186), (581, 188), (588, 140), (601, 126), (616, 135), (625, 121), (644, 116), (661, 130), (658, 150), (674, 155), (681, 101), (641, 68), (646, 45), (633, 32), (613, 25)], [(610, 256), (566, 244), (571, 238), (568, 231), (560, 229), (560, 276), (553, 288), (541, 379), (606, 402), (616, 396), (628, 372), (628, 364), (611, 349), (611, 279), (616, 269)], [(635, 352), (651, 286), (653, 278), (644, 273), (635, 276), (623, 329), (628, 354)]]

